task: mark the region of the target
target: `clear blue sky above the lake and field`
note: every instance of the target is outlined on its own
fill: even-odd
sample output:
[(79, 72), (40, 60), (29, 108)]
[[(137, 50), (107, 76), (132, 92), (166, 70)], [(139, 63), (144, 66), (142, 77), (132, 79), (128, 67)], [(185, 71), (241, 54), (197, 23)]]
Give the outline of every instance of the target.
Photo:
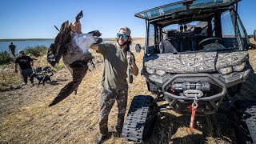
[[(120, 26), (129, 26), (134, 38), (145, 36), (145, 21), (135, 13), (178, 0), (1, 0), (0, 39), (55, 38), (62, 22), (74, 21), (83, 10), (82, 32), (100, 30), (114, 38)], [(247, 33), (256, 30), (256, 0), (242, 0), (238, 13)]]

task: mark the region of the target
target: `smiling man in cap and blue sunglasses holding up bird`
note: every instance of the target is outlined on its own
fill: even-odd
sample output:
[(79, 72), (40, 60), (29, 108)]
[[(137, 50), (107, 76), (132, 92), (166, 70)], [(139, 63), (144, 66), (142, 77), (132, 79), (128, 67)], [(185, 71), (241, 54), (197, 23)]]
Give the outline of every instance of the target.
[(128, 58), (130, 58), (132, 65), (132, 73), (138, 75), (138, 67), (136, 66), (134, 55), (130, 53), (130, 44), (130, 29), (124, 26), (118, 30), (117, 42), (115, 44), (103, 43), (90, 46), (90, 49), (97, 50), (104, 58), (99, 118), (100, 134), (95, 141), (96, 143), (102, 143), (109, 138), (108, 116), (115, 101), (118, 102), (118, 118), (115, 128), (118, 135), (122, 133), (128, 97), (128, 83), (126, 81)]

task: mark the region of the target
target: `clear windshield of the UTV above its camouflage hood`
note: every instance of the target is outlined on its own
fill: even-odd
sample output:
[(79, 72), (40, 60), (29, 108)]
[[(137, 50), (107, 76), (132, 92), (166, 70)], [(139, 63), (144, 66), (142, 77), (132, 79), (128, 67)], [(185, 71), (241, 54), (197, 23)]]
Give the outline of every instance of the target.
[(234, 9), (154, 20), (149, 22), (148, 30), (148, 54), (245, 50), (249, 46), (246, 30)]

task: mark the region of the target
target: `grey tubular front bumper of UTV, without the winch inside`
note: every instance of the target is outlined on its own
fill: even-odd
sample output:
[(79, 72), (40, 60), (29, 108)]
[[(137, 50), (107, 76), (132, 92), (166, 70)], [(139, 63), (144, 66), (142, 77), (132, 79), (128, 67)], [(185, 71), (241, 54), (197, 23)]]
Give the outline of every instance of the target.
[(173, 94), (170, 92), (170, 84), (173, 82), (209, 82), (212, 86), (218, 87), (218, 92), (213, 95), (205, 95), (198, 98), (198, 115), (214, 114), (222, 103), (227, 89), (226, 85), (214, 78), (211, 74), (176, 74), (169, 78), (162, 86), (162, 92), (169, 103), (170, 107), (175, 111), (180, 111), (182, 114), (191, 113), (191, 105), (196, 99), (196, 96), (187, 97), (185, 94)]

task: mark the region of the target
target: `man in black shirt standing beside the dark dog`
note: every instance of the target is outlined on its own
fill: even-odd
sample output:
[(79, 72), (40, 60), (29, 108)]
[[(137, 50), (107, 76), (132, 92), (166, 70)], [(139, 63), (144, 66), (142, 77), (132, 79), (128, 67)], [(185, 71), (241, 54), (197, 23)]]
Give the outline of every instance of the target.
[(18, 57), (14, 61), (14, 71), (18, 73), (18, 66), (22, 74), (23, 85), (27, 84), (27, 78), (30, 78), (30, 86), (34, 86), (34, 79), (30, 77), (33, 74), (32, 66), (34, 65), (33, 59), (26, 56), (23, 50), (18, 52)]

